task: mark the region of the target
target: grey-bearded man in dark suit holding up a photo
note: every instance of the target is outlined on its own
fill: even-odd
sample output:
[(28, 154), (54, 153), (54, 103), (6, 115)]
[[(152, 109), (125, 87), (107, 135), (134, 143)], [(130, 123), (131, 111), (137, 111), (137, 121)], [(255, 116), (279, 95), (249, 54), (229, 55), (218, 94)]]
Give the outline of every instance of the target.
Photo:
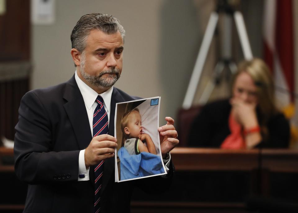
[[(113, 87), (122, 71), (124, 33), (113, 16), (82, 16), (71, 33), (75, 75), (68, 82), (29, 91), (22, 98), (14, 154), (16, 175), (28, 183), (24, 212), (129, 212), (134, 186), (148, 192), (169, 187), (173, 166), (165, 158), (179, 143), (170, 117), (158, 129), (168, 174), (114, 182), (115, 105), (136, 100)], [(108, 134), (93, 137), (98, 96), (108, 116)], [(94, 203), (94, 168), (103, 161), (101, 197)]]

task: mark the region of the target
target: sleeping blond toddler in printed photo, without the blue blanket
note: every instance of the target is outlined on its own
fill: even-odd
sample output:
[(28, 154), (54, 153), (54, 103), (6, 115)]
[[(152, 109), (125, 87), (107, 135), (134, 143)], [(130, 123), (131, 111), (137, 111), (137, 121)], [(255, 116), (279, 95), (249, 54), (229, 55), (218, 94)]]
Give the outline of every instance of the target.
[[(130, 155), (142, 152), (156, 155), (151, 137), (142, 133), (142, 121), (138, 108), (126, 112), (121, 118), (121, 130), (124, 135), (124, 147)], [(146, 145), (144, 144), (146, 142)]]

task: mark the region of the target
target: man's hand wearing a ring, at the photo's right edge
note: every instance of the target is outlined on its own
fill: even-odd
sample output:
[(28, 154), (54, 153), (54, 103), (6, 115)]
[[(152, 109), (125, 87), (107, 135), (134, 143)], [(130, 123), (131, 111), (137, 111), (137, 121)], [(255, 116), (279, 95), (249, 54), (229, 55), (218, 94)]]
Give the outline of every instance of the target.
[(179, 144), (178, 133), (174, 127), (174, 119), (165, 117), (167, 124), (158, 128), (160, 138), (160, 150), (163, 157)]

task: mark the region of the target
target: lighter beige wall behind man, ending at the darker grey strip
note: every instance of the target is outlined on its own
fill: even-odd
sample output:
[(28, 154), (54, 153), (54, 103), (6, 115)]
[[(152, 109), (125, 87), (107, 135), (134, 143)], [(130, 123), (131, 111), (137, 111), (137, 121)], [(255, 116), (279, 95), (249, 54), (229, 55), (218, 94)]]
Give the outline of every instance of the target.
[[(163, 2), (56, 1), (55, 24), (33, 26), (34, 72), (31, 88), (48, 87), (65, 82), (73, 75), (75, 67), (70, 56), (71, 30), (82, 15), (100, 12), (116, 16), (126, 30), (124, 68), (116, 87), (141, 97), (165, 96), (160, 86), (163, 79), (157, 75), (159, 12)], [(165, 112), (161, 114), (164, 116)]]

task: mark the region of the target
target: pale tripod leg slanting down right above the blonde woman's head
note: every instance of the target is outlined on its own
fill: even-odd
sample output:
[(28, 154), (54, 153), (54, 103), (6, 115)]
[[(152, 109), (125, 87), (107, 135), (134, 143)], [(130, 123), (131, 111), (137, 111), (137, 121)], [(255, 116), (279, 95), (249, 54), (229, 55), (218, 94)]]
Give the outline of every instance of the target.
[(236, 11), (234, 13), (234, 19), (236, 22), (238, 36), (239, 36), (239, 39), (241, 42), (241, 47), (242, 47), (242, 51), (244, 54), (244, 58), (246, 60), (251, 60), (252, 59), (251, 46), (249, 44), (249, 40), (248, 40), (242, 13), (239, 11)]

